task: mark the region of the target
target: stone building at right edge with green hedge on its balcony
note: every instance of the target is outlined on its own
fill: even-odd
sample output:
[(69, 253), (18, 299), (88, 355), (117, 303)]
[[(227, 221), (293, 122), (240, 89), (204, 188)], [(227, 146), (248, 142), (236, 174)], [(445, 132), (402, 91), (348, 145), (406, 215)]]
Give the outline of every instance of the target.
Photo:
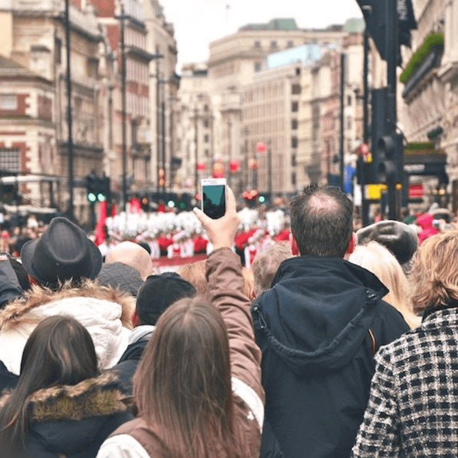
[(418, 28), (412, 32), (411, 49), (404, 48), (398, 122), (424, 159), (407, 167), (410, 184), (423, 184), (426, 206), (438, 202), (456, 211), (458, 1), (414, 0), (413, 7)]

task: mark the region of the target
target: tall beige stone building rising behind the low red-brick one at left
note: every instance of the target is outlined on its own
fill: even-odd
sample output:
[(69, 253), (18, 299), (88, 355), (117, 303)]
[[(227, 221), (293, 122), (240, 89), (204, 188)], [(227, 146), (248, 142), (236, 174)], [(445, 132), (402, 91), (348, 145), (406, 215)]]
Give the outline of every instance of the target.
[[(35, 138), (28, 136), (29, 144), (22, 150), (18, 173), (54, 177), (58, 190), (53, 194), (54, 202), (51, 202), (48, 192), (42, 193), (42, 181), (24, 183), (21, 191), (36, 202), (55, 204), (61, 211), (68, 209), (69, 170), (64, 10), (65, 2), (58, 0), (11, 0), (0, 4), (3, 56), (22, 68), (20, 84), (23, 85), (27, 78), (27, 83), (31, 84), (31, 91), (24, 102), (26, 109), (21, 116), (35, 119), (38, 123), (43, 116), (43, 103), (47, 112), (46, 120), (41, 120), (43, 126), (47, 123), (46, 133), (37, 134)], [(100, 53), (103, 40), (93, 8), (83, 8), (79, 2), (71, 3), (70, 23), (74, 209), (75, 216), (84, 219), (87, 204), (84, 182), (80, 178), (93, 168), (99, 169), (103, 159), (105, 119), (100, 84), (103, 77), (100, 73), (104, 61)], [(6, 98), (13, 96), (11, 80), (3, 82), (0, 93)], [(16, 95), (19, 110), (23, 101), (20, 102), (20, 94)], [(13, 98), (10, 97), (10, 106), (13, 106)], [(3, 141), (8, 145), (17, 139), (14, 135), (5, 135)]]

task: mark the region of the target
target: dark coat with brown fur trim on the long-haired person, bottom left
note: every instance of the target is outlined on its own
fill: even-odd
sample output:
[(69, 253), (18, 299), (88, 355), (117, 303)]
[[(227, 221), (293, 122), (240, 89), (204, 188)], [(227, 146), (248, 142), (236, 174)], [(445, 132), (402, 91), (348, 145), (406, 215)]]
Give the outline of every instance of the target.
[[(9, 396), (0, 399), (0, 408)], [(38, 390), (28, 399), (28, 412), (26, 452), (17, 458), (93, 458), (102, 442), (133, 418), (107, 375)]]

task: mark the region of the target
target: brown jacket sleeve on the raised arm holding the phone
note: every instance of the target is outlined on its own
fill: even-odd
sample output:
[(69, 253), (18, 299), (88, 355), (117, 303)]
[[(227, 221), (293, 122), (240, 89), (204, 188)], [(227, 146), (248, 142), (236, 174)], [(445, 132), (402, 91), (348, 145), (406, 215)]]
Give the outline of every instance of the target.
[(230, 248), (214, 250), (207, 260), (210, 299), (227, 328), (232, 377), (252, 388), (264, 402), (261, 350), (254, 341), (250, 300), (243, 294), (240, 257)]

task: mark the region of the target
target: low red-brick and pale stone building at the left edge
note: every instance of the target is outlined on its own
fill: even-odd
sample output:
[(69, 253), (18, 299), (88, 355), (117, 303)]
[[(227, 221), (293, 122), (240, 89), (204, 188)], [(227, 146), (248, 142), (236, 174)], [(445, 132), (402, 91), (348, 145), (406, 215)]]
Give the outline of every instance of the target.
[(3, 204), (54, 208), (62, 183), (50, 173), (58, 161), (52, 82), (0, 57), (0, 88), (0, 170), (10, 179)]

